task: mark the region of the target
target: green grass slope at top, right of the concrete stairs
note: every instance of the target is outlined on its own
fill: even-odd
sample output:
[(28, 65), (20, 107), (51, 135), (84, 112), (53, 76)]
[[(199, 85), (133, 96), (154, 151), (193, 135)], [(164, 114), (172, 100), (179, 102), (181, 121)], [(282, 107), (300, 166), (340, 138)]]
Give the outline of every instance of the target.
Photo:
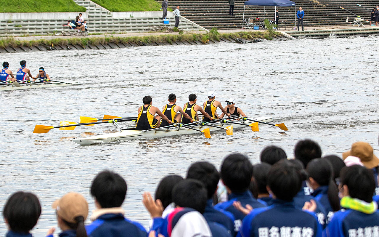
[(160, 11), (155, 0), (92, 0), (109, 11)]

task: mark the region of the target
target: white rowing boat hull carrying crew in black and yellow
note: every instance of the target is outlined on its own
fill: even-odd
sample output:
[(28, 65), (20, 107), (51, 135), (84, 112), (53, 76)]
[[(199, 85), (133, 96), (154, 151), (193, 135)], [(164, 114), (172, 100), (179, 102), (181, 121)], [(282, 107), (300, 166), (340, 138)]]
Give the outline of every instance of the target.
[[(255, 118), (257, 121), (261, 122), (270, 122), (273, 120), (273, 117), (264, 117), (264, 118)], [(238, 121), (241, 124), (233, 124), (233, 129), (235, 128), (241, 128), (246, 127), (246, 125), (243, 124), (250, 124), (249, 121)], [(207, 129), (209, 128), (211, 131), (215, 130), (224, 130), (225, 127), (230, 126), (230, 123), (223, 123), (221, 122), (215, 122), (212, 123), (212, 125), (219, 126), (217, 127), (210, 127), (210, 126), (202, 126), (202, 125), (194, 125), (190, 126), (194, 129)], [(175, 135), (187, 135), (187, 134), (193, 134), (193, 133), (199, 133), (196, 130), (184, 128), (184, 127), (168, 127), (168, 128), (161, 128), (161, 129), (151, 129), (151, 130), (132, 130), (132, 129), (121, 129), (119, 132), (113, 132), (113, 133), (106, 133), (102, 135), (96, 135), (92, 137), (84, 137), (84, 138), (74, 138), (72, 141), (74, 141), (77, 144), (80, 145), (91, 145), (96, 143), (108, 143), (111, 141), (117, 141), (117, 140), (132, 140), (132, 139), (141, 139), (141, 138), (160, 138), (160, 137), (167, 137), (167, 136), (175, 136)]]

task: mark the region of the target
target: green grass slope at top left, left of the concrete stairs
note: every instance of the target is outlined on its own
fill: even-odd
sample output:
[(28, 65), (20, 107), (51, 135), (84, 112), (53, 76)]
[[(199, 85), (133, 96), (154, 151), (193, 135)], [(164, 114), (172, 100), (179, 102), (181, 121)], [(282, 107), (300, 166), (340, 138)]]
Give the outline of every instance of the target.
[(0, 0), (2, 13), (56, 13), (82, 12), (86, 8), (74, 3), (73, 0)]

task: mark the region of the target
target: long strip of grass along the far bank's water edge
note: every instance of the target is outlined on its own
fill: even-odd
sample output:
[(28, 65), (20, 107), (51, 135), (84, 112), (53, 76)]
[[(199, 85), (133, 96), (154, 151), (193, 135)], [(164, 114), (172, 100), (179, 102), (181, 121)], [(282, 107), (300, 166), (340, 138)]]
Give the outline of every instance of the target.
[(224, 33), (220, 34), (217, 30), (212, 30), (209, 33), (200, 33), (200, 34), (172, 34), (172, 35), (158, 35), (158, 36), (133, 36), (133, 37), (114, 37), (110, 35), (109, 37), (90, 37), (90, 38), (58, 38), (58, 39), (39, 39), (39, 40), (31, 40), (31, 41), (19, 41), (15, 40), (13, 37), (8, 37), (3, 40), (0, 40), (0, 48), (4, 49), (5, 47), (31, 47), (31, 46), (67, 46), (69, 44), (72, 45), (80, 45), (84, 48), (88, 46), (88, 44), (99, 45), (99, 44), (109, 44), (109, 43), (135, 43), (139, 44), (140, 42), (155, 44), (168, 42), (172, 44), (175, 41), (200, 41), (204, 44), (207, 44), (210, 40), (212, 41), (220, 41), (220, 38), (244, 38), (244, 39), (257, 39), (264, 38), (268, 40), (272, 40), (272, 36), (279, 35), (277, 32), (269, 32), (269, 31), (258, 31), (258, 32), (238, 32), (238, 33)]

